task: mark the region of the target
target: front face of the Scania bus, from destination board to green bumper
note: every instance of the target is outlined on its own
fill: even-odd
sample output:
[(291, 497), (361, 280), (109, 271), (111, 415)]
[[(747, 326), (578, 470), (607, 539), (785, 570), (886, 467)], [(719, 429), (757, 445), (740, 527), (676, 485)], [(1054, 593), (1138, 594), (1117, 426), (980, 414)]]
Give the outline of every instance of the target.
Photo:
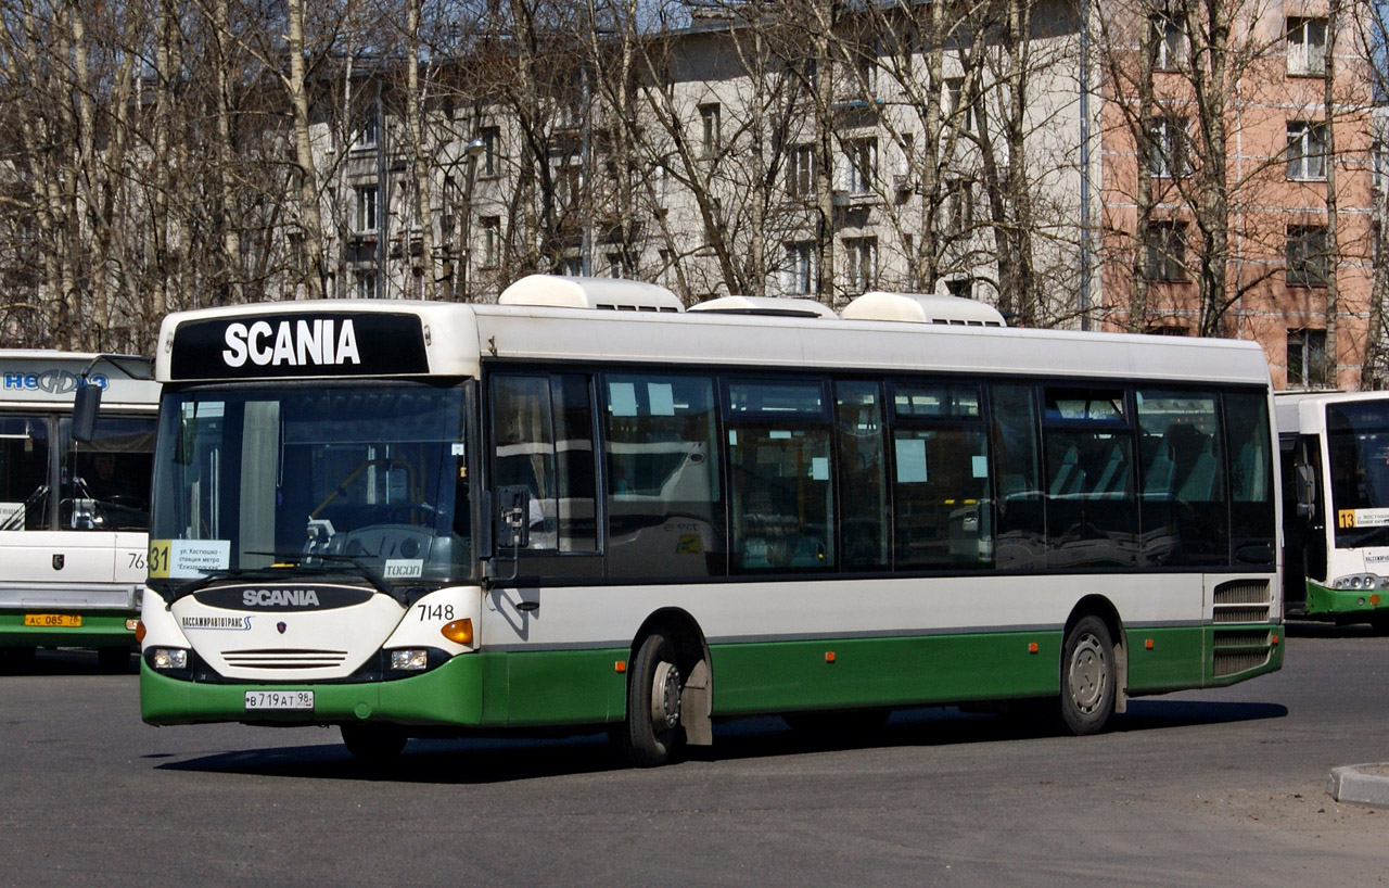
[(411, 314), (190, 325), (164, 334), (143, 718), (340, 724), (357, 750), (468, 723), (475, 695), (440, 688), (465, 681), (481, 607), (472, 384), (428, 375)]

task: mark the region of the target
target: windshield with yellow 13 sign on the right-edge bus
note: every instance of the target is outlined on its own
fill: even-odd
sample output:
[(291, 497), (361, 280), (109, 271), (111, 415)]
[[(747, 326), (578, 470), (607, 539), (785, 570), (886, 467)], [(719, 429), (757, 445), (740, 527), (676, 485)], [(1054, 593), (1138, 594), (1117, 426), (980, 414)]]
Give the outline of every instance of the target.
[(1326, 406), (1336, 548), (1389, 545), (1389, 402)]

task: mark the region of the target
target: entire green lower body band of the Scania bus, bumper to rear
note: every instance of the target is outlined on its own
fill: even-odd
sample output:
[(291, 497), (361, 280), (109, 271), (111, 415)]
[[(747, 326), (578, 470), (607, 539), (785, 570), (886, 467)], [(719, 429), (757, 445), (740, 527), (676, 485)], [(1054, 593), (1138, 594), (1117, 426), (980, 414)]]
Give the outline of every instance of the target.
[[(1282, 664), (1282, 627), (1163, 627), (1126, 632), (1129, 693), (1233, 684)], [(710, 646), (713, 714), (893, 707), (1050, 696), (1060, 631), (786, 641)], [(140, 666), (150, 724), (392, 721), (543, 728), (619, 721), (625, 648), (471, 653), (413, 678), (361, 684), (196, 684)], [(247, 713), (246, 691), (314, 691), (313, 712)]]

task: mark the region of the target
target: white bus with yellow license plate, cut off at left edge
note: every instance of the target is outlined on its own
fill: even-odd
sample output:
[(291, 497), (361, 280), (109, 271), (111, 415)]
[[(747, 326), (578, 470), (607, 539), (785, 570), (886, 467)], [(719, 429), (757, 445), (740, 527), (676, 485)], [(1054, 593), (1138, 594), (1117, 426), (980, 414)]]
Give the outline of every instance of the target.
[[(79, 382), (104, 392), (72, 435)], [(94, 648), (126, 670), (144, 588), (158, 385), (149, 359), (0, 350), (0, 655)], [(86, 435), (85, 435), (86, 436)]]

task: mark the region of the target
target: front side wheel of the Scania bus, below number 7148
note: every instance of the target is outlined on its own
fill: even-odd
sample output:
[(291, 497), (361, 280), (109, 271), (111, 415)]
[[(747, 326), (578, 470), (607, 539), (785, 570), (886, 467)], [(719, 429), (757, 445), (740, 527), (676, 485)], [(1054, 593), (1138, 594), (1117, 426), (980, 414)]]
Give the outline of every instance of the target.
[(626, 723), (618, 741), (632, 764), (658, 767), (679, 749), (683, 689), (675, 645), (656, 630), (638, 646), (626, 684)]

